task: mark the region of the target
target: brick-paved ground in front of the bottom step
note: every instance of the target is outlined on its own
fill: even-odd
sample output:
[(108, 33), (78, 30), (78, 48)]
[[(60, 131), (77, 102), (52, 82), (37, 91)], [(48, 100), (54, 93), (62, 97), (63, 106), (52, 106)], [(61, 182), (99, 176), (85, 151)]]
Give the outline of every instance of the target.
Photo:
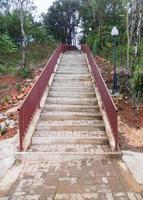
[(116, 160), (27, 161), (0, 200), (142, 200), (129, 187)]

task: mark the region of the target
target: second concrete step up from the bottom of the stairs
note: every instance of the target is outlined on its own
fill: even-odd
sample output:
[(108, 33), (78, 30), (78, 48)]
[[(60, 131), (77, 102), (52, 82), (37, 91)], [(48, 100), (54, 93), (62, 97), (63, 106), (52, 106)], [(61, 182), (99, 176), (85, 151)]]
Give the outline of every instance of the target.
[(32, 138), (32, 145), (45, 145), (45, 144), (108, 144), (107, 137), (39, 137), (34, 136)]

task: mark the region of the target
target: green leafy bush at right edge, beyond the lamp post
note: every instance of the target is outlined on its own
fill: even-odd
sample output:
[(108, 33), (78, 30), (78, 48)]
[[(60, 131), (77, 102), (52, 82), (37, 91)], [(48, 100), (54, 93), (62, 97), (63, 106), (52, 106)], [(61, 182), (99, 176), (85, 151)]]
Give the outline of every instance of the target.
[(143, 68), (137, 66), (131, 78), (131, 89), (133, 97), (143, 102)]

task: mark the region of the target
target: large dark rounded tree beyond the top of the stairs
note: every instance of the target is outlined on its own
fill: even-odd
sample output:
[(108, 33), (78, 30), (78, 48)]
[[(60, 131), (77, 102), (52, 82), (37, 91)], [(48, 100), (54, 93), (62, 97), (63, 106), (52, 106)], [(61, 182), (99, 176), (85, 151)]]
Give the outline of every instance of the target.
[(57, 0), (43, 15), (47, 32), (57, 41), (72, 44), (79, 24), (79, 0)]

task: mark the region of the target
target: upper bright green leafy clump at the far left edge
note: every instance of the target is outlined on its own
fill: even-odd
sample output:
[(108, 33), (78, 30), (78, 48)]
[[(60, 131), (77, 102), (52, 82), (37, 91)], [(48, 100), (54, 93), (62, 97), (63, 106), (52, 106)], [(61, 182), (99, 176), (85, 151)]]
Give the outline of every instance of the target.
[(7, 34), (0, 36), (0, 53), (2, 55), (17, 51), (17, 46), (13, 43)]

